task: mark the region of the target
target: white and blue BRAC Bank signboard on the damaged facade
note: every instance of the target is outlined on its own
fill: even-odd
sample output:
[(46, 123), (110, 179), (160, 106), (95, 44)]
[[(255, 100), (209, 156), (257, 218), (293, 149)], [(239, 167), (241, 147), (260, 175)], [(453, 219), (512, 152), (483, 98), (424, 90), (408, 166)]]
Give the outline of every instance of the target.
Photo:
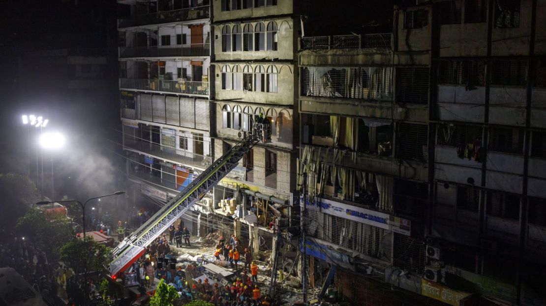
[[(300, 203), (301, 203), (300, 198)], [(307, 202), (307, 209), (317, 210), (328, 215), (349, 219), (372, 225), (372, 227), (392, 230), (410, 236), (410, 220), (390, 216), (384, 212), (373, 211), (357, 206), (347, 205), (332, 200), (316, 197), (313, 202)]]

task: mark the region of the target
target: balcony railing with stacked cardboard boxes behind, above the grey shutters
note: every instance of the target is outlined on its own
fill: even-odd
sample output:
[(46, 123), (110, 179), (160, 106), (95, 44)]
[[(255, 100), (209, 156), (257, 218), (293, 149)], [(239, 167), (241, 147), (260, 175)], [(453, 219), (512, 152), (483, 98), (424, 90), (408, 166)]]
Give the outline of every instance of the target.
[(171, 81), (147, 78), (121, 78), (120, 88), (168, 91), (189, 95), (209, 95), (209, 82)]

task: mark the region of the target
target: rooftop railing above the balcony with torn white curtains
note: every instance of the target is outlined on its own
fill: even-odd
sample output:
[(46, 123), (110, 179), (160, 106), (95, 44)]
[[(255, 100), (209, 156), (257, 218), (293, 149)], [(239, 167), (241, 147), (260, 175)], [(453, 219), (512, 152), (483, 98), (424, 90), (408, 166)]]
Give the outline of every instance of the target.
[(301, 50), (389, 48), (391, 33), (311, 36), (301, 38)]

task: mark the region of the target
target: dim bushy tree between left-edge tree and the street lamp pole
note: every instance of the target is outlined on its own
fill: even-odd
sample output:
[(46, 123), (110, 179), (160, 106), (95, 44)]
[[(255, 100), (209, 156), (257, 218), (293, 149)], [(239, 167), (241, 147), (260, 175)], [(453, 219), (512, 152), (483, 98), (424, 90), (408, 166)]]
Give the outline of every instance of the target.
[(48, 256), (54, 257), (58, 249), (74, 237), (69, 218), (58, 216), (48, 219), (44, 211), (35, 208), (28, 209), (24, 216), (17, 219), (15, 229), (37, 244)]

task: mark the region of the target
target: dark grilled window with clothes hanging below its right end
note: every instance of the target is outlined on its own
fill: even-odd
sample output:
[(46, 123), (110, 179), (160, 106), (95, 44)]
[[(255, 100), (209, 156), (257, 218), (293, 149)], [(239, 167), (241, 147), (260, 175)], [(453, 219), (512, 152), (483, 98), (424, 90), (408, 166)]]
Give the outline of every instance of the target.
[(464, 144), (476, 144), (476, 139), (481, 145), (482, 127), (462, 124), (441, 124), (438, 125), (437, 144), (458, 147)]

